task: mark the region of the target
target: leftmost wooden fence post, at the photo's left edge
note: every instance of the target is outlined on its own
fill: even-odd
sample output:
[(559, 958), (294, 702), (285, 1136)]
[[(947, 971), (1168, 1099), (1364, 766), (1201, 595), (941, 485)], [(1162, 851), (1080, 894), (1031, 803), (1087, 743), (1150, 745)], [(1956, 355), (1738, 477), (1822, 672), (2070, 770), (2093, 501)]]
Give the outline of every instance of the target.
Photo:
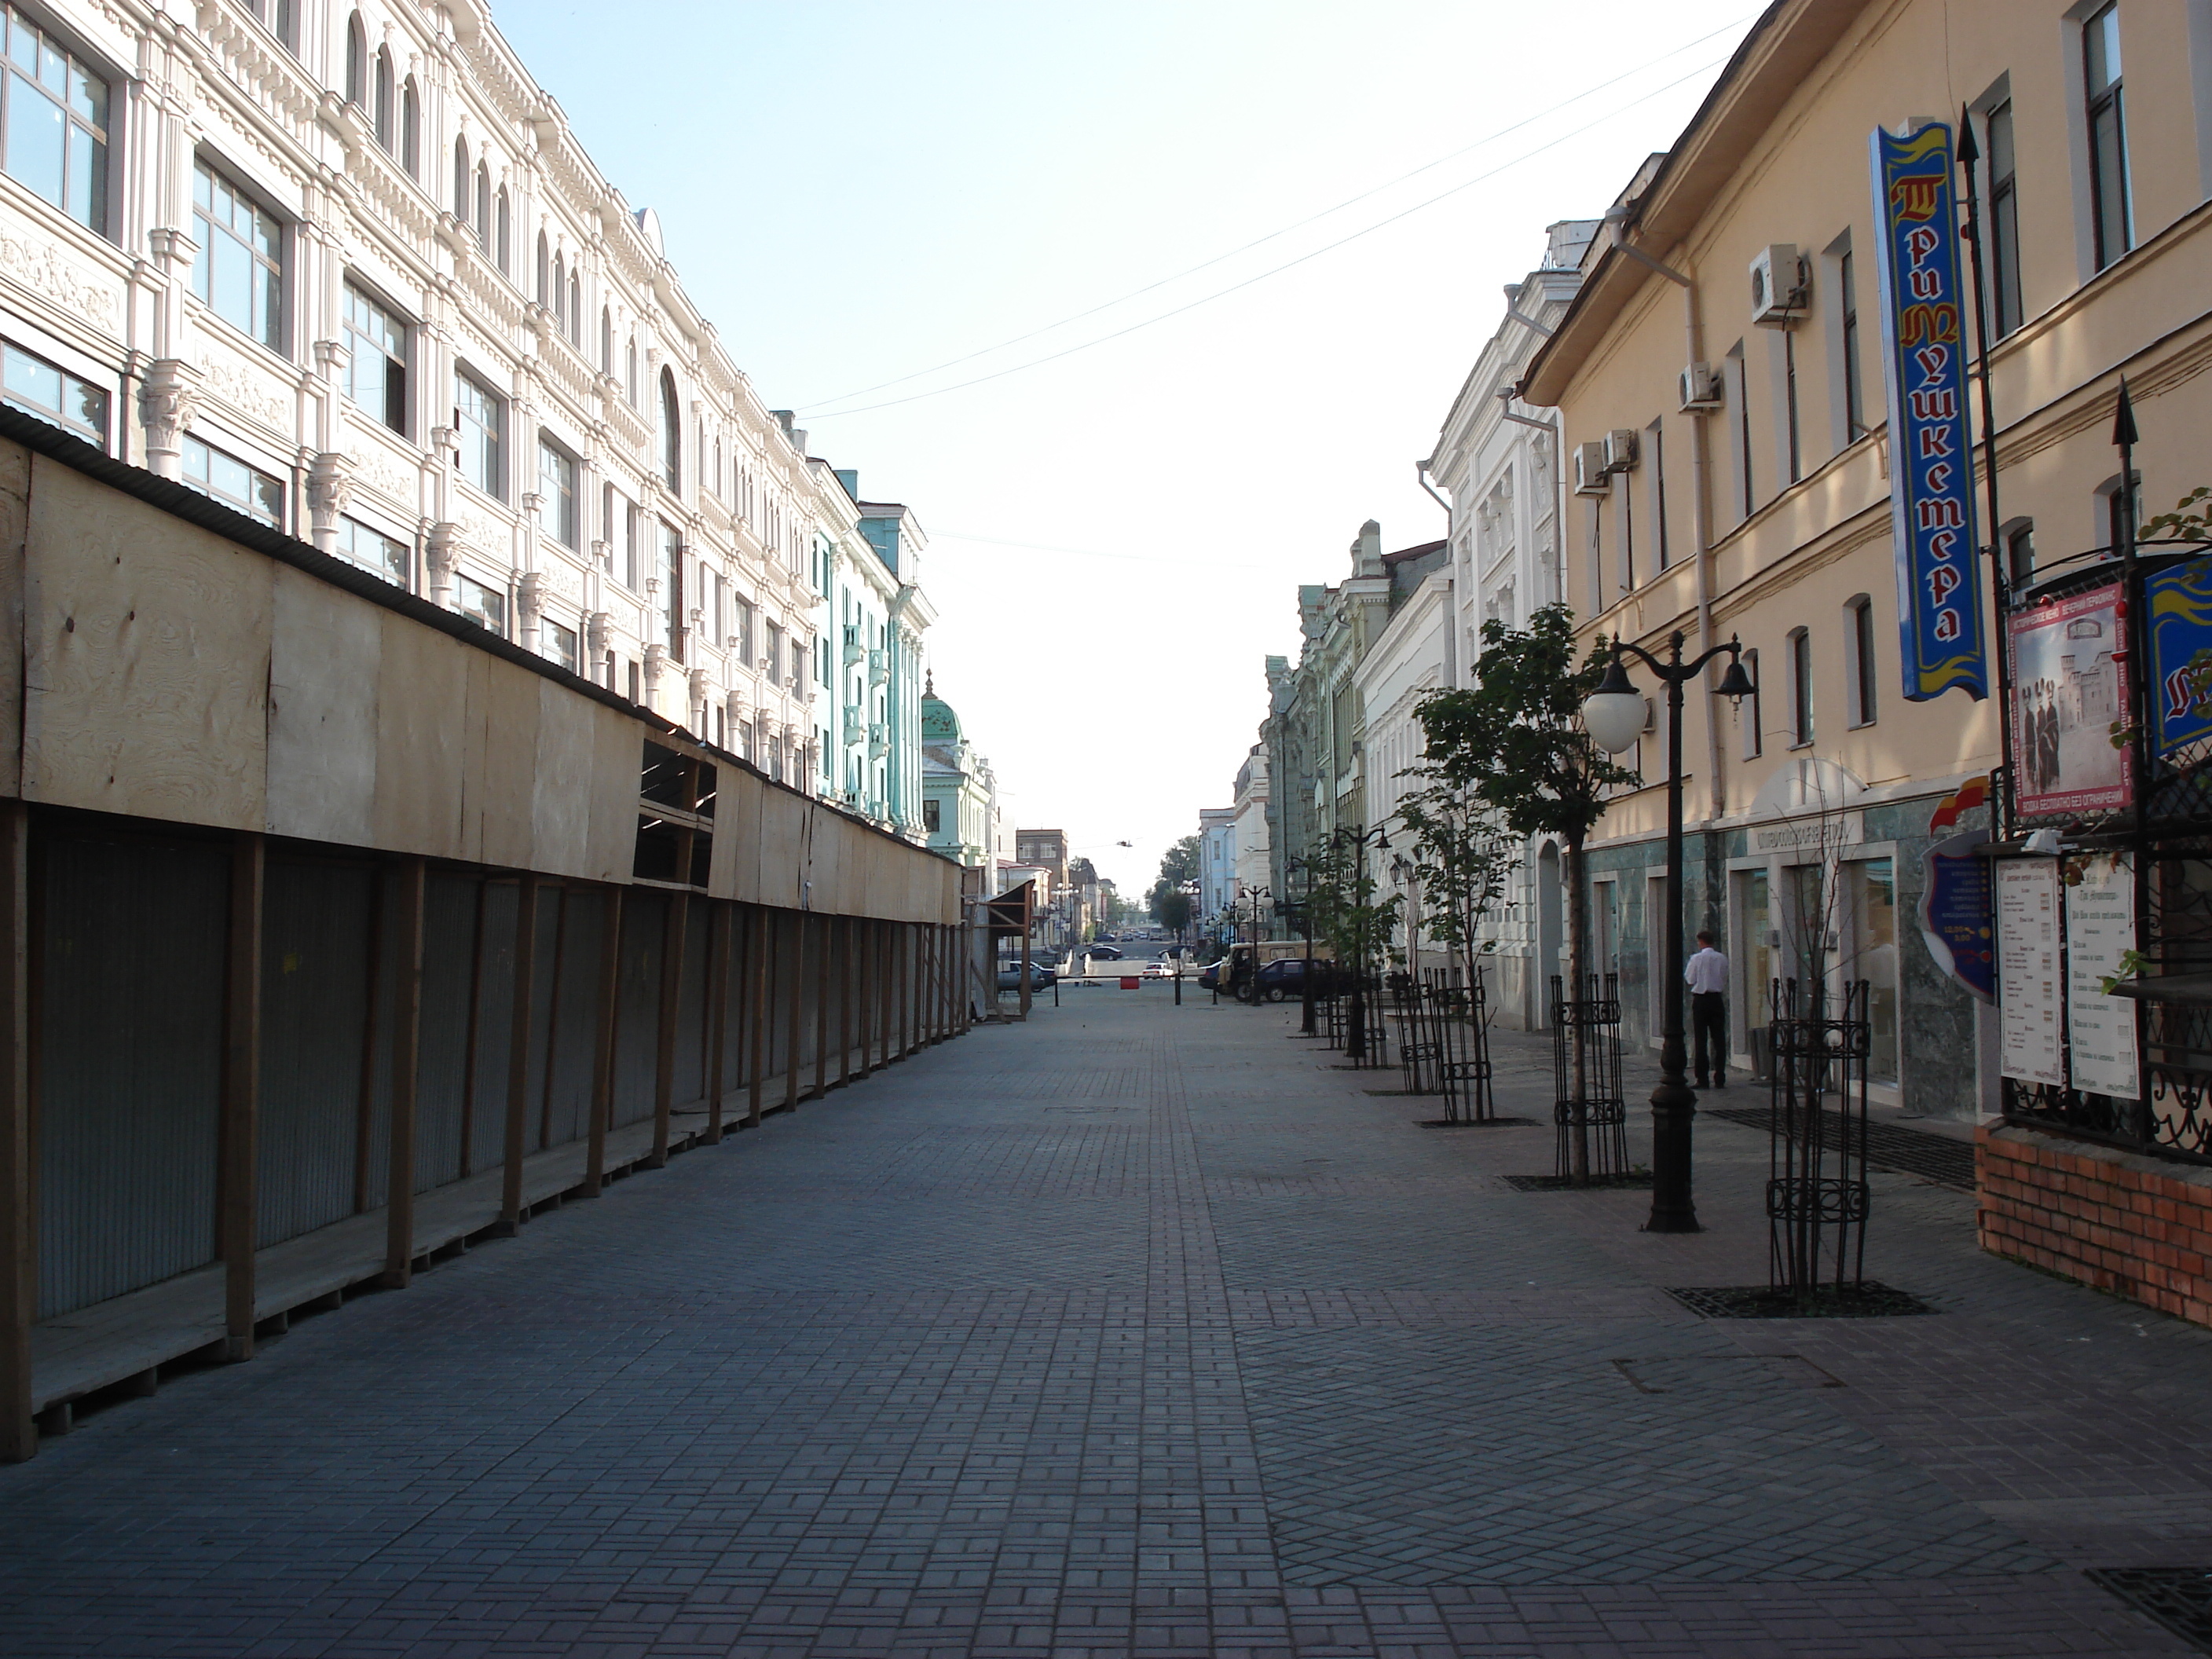
[(0, 801), (0, 1460), (38, 1455), (31, 1420), (31, 810)]

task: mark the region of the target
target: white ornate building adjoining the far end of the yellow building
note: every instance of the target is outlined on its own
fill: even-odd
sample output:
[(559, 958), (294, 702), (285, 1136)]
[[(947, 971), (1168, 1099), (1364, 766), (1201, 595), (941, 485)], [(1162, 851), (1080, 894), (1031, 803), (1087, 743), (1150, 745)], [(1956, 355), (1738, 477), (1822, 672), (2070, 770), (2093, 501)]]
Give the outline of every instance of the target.
[[(1451, 591), (1455, 677), (1473, 681), (1482, 624), (1526, 626), (1564, 597), (1559, 436), (1553, 416), (1517, 403), (1513, 389), (1537, 345), (1582, 285), (1582, 250), (1595, 219), (1548, 226), (1544, 263), (1506, 288), (1506, 319), (1482, 347), (1422, 462), (1451, 498)], [(1546, 980), (1557, 973), (1562, 931), (1559, 852), (1533, 845), (1498, 922), (1491, 1006), (1504, 1024), (1544, 1022)]]

